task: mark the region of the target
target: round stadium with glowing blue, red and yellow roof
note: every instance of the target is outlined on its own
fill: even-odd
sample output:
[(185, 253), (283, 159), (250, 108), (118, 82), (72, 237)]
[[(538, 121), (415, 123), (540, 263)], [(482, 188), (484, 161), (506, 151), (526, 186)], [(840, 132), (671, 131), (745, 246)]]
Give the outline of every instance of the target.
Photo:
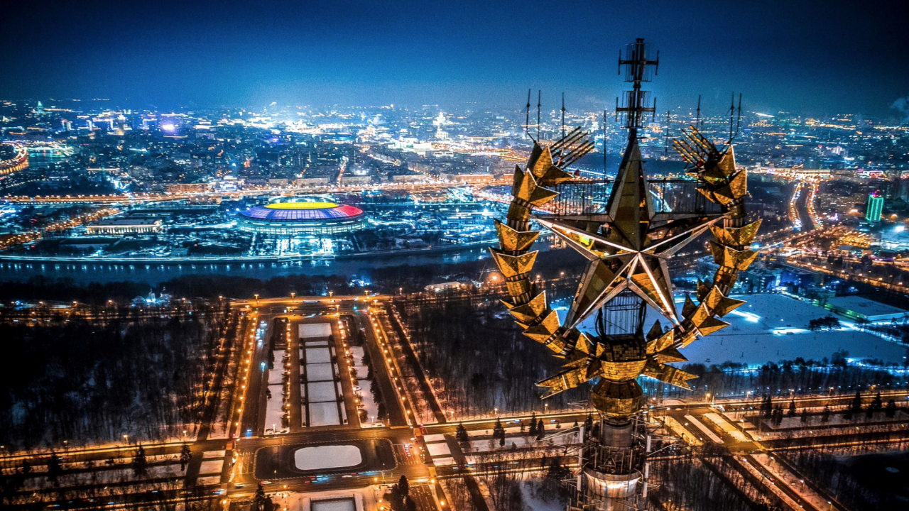
[(366, 215), (358, 207), (307, 198), (256, 205), (237, 215), (241, 230), (265, 235), (336, 235), (365, 225)]

